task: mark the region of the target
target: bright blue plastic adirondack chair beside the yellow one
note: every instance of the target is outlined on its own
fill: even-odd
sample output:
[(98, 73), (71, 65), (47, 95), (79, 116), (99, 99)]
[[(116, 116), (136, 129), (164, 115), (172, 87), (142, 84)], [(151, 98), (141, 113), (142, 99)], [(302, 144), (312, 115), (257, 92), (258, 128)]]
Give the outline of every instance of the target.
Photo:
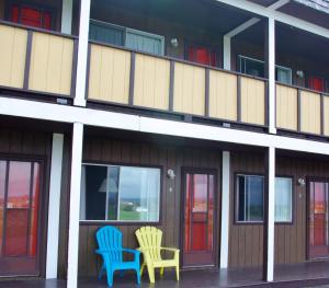
[[(124, 270), (134, 269), (137, 275), (137, 283), (140, 284), (140, 252), (137, 250), (124, 249), (122, 246), (122, 232), (112, 226), (106, 226), (99, 229), (95, 237), (99, 244), (99, 249), (95, 250), (95, 253), (103, 258), (99, 279), (101, 279), (103, 273), (106, 272), (107, 285), (112, 286), (113, 274), (115, 270), (120, 270), (123, 276)], [(134, 261), (124, 262), (123, 252), (134, 254)]]

